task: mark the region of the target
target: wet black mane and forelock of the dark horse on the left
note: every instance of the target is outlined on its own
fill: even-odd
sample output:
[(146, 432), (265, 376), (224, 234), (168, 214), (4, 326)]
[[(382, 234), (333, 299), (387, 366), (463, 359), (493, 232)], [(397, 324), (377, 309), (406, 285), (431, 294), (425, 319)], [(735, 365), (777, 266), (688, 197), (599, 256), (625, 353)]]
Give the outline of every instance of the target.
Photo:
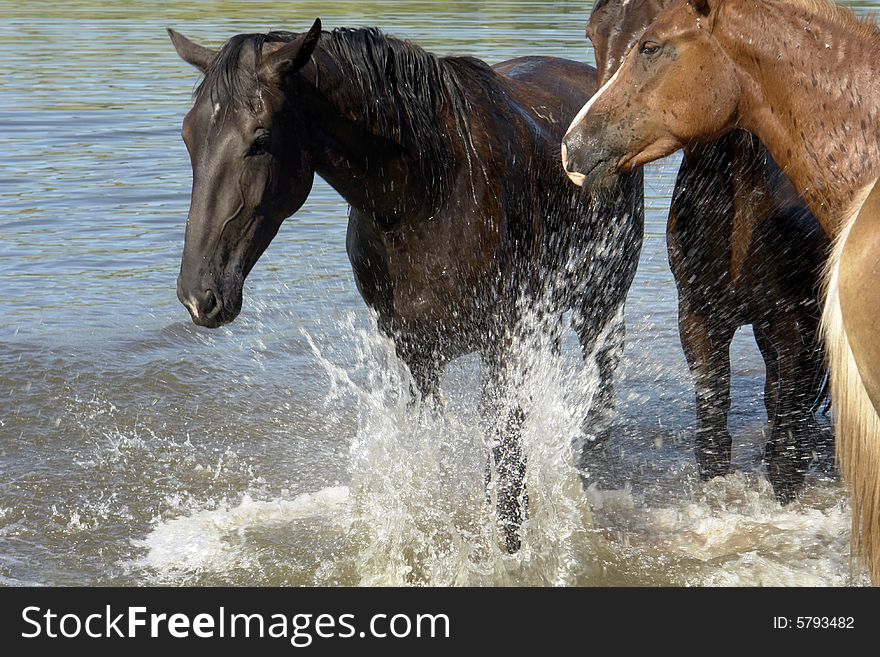
[[(289, 42), (297, 36), (269, 32), (232, 37), (215, 56), (195, 95), (208, 93), (212, 103), (229, 100), (253, 111), (263, 46)], [(252, 70), (241, 66), (247, 47), (253, 48)], [(467, 90), (500, 93), (497, 75), (486, 63), (473, 57), (437, 57), (376, 28), (323, 32), (317, 52), (349, 76), (345, 85), (331, 91), (337, 104), (344, 105), (352, 120), (368, 126), (377, 136), (403, 146), (417, 143), (422, 154), (420, 166), (431, 178), (442, 178), (450, 139), (466, 142), (470, 138), (472, 112)], [(320, 84), (319, 79), (319, 90), (327, 92)], [(458, 134), (448, 134), (446, 117), (452, 119)]]

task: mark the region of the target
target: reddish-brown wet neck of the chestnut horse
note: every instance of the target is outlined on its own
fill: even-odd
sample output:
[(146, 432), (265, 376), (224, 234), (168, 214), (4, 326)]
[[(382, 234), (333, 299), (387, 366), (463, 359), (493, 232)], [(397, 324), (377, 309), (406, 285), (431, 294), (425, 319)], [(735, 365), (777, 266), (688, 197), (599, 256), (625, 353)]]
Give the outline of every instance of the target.
[(834, 235), (880, 175), (880, 40), (791, 2), (722, 7), (715, 34), (741, 74), (739, 126), (758, 136)]

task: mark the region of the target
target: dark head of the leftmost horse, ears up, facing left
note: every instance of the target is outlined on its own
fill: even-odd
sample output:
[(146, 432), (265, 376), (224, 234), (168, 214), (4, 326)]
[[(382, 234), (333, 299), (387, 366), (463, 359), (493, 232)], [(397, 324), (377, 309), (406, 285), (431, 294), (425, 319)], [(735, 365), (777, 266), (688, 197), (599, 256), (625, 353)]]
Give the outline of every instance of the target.
[(241, 311), (244, 281), (312, 188), (308, 132), (288, 77), (309, 61), (321, 22), (303, 34), (243, 34), (214, 52), (168, 30), (204, 79), (183, 121), (193, 171), (177, 296), (216, 328)]

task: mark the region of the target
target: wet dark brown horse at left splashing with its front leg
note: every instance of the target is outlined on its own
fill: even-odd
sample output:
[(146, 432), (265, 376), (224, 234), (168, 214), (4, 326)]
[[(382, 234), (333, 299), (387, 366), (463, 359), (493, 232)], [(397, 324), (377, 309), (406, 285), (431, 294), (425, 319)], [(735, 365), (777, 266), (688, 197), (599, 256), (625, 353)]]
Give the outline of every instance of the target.
[[(555, 324), (571, 309), (607, 413), (622, 326), (597, 340), (632, 282), (643, 212), (640, 175), (598, 206), (560, 167), (592, 68), (544, 57), (490, 67), (375, 29), (322, 32), (319, 21), (304, 34), (238, 35), (217, 52), (170, 34), (204, 73), (183, 123), (193, 188), (177, 285), (195, 323), (235, 319), (248, 272), (317, 173), (351, 206), (355, 282), (419, 393), (435, 393), (444, 365), (475, 351), (486, 391), (504, 391), (524, 313)], [(522, 412), (494, 405), (505, 406), (492, 452), (513, 551), (525, 463)]]

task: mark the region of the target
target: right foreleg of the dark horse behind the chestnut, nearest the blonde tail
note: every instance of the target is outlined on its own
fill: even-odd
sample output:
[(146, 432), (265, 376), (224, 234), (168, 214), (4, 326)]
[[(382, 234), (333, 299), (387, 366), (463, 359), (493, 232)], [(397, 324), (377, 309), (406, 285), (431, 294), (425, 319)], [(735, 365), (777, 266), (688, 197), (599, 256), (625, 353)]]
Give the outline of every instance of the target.
[(764, 448), (776, 498), (790, 502), (801, 491), (823, 432), (813, 415), (817, 395), (816, 322), (796, 309), (774, 317), (769, 335), (779, 354), (779, 398)]

